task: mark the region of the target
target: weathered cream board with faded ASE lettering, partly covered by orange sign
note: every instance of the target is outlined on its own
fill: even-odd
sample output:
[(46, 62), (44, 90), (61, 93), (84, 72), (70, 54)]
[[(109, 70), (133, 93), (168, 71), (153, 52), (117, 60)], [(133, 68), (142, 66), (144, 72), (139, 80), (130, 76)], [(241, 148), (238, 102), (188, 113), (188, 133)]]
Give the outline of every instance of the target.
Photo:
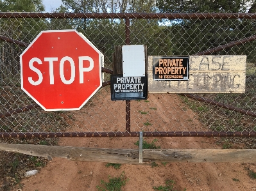
[[(162, 69), (160, 73), (159, 69), (154, 69), (155, 57), (166, 59), (168, 56), (148, 57), (149, 93), (244, 93), (245, 91), (246, 56), (189, 56), (189, 80), (186, 81), (173, 81), (164, 77), (170, 73), (167, 68), (168, 61), (166, 61), (167, 69)], [(163, 65), (164, 61), (160, 66)], [(180, 66), (179, 60), (176, 61), (175, 66), (181, 69), (171, 69), (173, 75), (178, 72), (179, 75), (183, 75), (184, 66)], [(160, 80), (154, 79), (155, 73), (160, 73), (163, 77)]]

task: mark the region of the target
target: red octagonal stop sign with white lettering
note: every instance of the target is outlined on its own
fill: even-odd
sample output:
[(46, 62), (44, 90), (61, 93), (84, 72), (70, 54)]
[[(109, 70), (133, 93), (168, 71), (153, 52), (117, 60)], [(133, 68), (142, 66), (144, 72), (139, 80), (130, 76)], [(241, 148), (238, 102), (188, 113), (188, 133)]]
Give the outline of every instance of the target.
[(103, 55), (76, 30), (42, 31), (20, 60), (21, 88), (45, 111), (81, 109), (101, 88)]

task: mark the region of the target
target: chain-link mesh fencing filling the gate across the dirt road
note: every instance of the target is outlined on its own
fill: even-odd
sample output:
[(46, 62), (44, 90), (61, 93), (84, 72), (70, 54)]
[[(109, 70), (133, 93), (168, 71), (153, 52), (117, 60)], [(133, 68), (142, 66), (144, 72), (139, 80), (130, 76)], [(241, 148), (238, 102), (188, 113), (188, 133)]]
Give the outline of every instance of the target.
[[(250, 13), (0, 13), (0, 137), (256, 136), (256, 15)], [(76, 29), (104, 55), (104, 87), (80, 111), (46, 112), (21, 89), (19, 56), (40, 31)], [(242, 94), (149, 94), (110, 100), (117, 45), (148, 56), (246, 55)], [(107, 73), (106, 73), (107, 72)], [(74, 98), (75, 99), (75, 98)]]

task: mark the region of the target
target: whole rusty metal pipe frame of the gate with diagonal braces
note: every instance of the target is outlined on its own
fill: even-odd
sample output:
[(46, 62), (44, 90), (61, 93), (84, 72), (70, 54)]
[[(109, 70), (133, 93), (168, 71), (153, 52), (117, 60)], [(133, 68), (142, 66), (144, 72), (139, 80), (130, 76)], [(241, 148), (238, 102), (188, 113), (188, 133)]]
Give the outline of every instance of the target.
[[(52, 19), (125, 19), (125, 43), (130, 44), (130, 19), (256, 19), (256, 13), (0, 13), (0, 18), (52, 18)], [(27, 47), (27, 43), (22, 43), (11, 38), (0, 36), (0, 40), (9, 43), (15, 43), (22, 47)], [(256, 35), (242, 40), (237, 40), (226, 45), (198, 52), (194, 55), (208, 55), (224, 49), (241, 45), (246, 42), (256, 40)], [(112, 70), (101, 68), (102, 72), (112, 73)], [(108, 86), (110, 81), (103, 82), (102, 86)], [(211, 105), (223, 107), (231, 111), (241, 112), (256, 117), (256, 114), (244, 109), (236, 108), (232, 105), (226, 105), (214, 100), (206, 99), (192, 94), (181, 94), (201, 102), (207, 102)], [(29, 111), (39, 105), (27, 105), (20, 109), (8, 111), (0, 114), (0, 118), (11, 116), (24, 111)], [(256, 137), (256, 132), (143, 132), (144, 137)], [(4, 132), (0, 133), (0, 137), (139, 137), (139, 132), (130, 132), (130, 101), (126, 101), (126, 132)]]

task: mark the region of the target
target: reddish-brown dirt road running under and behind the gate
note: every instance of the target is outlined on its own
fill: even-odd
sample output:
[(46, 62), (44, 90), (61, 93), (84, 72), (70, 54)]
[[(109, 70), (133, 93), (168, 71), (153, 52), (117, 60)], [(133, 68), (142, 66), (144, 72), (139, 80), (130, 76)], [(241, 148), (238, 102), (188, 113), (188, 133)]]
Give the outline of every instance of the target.
[[(94, 101), (94, 108), (97, 107), (109, 114), (105, 123), (115, 124), (115, 128), (119, 130), (119, 126), (124, 126), (124, 119), (115, 122), (115, 112), (118, 112), (119, 116), (125, 116), (124, 109), (117, 111), (117, 108), (124, 103), (113, 102), (112, 107), (101, 107), (101, 105), (106, 105), (107, 103), (105, 102), (109, 102), (110, 98), (105, 95), (100, 96), (100, 98)], [(159, 96), (149, 95), (149, 102), (132, 102), (132, 111), (146, 111), (147, 107), (157, 108), (156, 111), (149, 111), (144, 116), (138, 115), (138, 112), (132, 112), (132, 127), (138, 128), (137, 130), (153, 130), (157, 126), (162, 126), (161, 128), (164, 129), (164, 126), (167, 126), (166, 123), (170, 123), (170, 118), (172, 118), (175, 120), (169, 126), (174, 125), (176, 130), (196, 130), (203, 128), (200, 127), (200, 122), (194, 118), (195, 114), (191, 110), (187, 109), (185, 113), (181, 110), (181, 108), (185, 107), (185, 103), (182, 103), (178, 96), (171, 96), (171, 98), (165, 97), (165, 101), (162, 102), (159, 102), (159, 99), (161, 100)], [(166, 103), (169, 103), (169, 105), (179, 105), (179, 107), (170, 109), (166, 107)], [(85, 107), (84, 110), (86, 109), (88, 108)], [(167, 111), (168, 114), (166, 114)], [(95, 109), (94, 112), (96, 112)], [(90, 115), (90, 112), (85, 112), (82, 109), (79, 115), (78, 112), (76, 114), (76, 119), (80, 121), (84, 120), (84, 123), (86, 123), (87, 115)], [(189, 118), (193, 119), (192, 122), (188, 120)], [(102, 120), (104, 121), (103, 116), (96, 114), (94, 120), (96, 121), (96, 125), (98, 124), (99, 128), (103, 130), (103, 123), (100, 122)], [(145, 122), (145, 120), (154, 120), (154, 123), (150, 127), (144, 126), (143, 128), (136, 125)], [(71, 128), (75, 130), (77, 126)], [(82, 131), (82, 127), (79, 130)], [(144, 138), (148, 142), (153, 141), (153, 139), (155, 138)], [(85, 148), (131, 149), (138, 148), (134, 144), (138, 140), (138, 137), (62, 138), (58, 144), (61, 146), (83, 146)], [(219, 138), (214, 137), (157, 137), (156, 144), (161, 148), (169, 149), (221, 148), (221, 145), (216, 144), (218, 140)], [(237, 146), (237, 148), (241, 147)], [(256, 172), (256, 165), (188, 162), (158, 164), (157, 167), (122, 164), (120, 169), (114, 169), (113, 167), (106, 167), (105, 163), (73, 162), (65, 158), (53, 158), (38, 174), (30, 178), (24, 178), (21, 183), (24, 184), (22, 191), (98, 190), (96, 186), (100, 185), (101, 180), (108, 181), (109, 176), (117, 177), (124, 171), (129, 181), (121, 190), (153, 190), (153, 187), (164, 186), (166, 180), (174, 180), (176, 183), (174, 190), (177, 191), (184, 190), (184, 188), (187, 191), (256, 190), (256, 180), (248, 176), (248, 169)]]

